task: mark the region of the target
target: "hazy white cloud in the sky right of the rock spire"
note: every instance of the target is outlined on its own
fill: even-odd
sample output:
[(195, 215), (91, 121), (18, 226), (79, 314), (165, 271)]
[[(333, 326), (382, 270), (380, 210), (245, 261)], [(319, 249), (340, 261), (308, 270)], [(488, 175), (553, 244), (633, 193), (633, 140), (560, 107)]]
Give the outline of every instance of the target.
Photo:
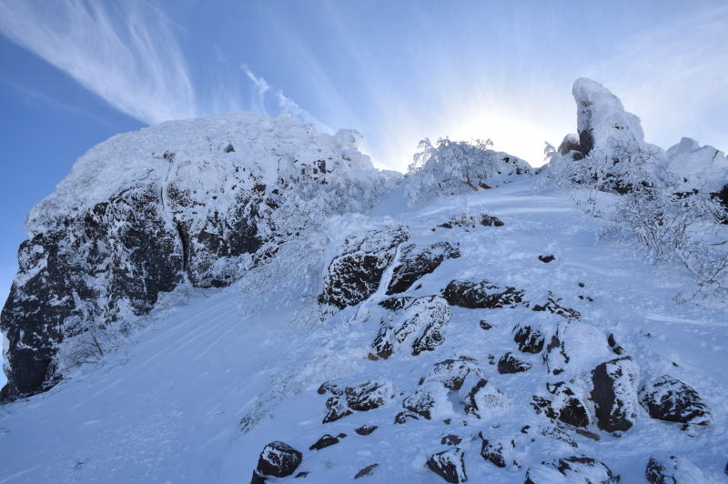
[[(728, 108), (728, 5), (696, 10), (626, 38), (587, 74), (600, 78), (625, 108), (642, 118), (648, 140), (663, 147), (694, 136), (728, 149), (725, 123), (712, 111)], [(715, 113), (713, 113), (715, 115)]]

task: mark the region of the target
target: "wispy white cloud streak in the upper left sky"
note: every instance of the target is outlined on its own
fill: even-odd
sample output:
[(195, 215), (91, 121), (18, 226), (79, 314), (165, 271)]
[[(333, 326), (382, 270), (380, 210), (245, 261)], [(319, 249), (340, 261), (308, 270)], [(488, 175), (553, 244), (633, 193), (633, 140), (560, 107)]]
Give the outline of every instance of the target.
[(197, 115), (173, 25), (153, 5), (2, 0), (0, 32), (145, 123)]

